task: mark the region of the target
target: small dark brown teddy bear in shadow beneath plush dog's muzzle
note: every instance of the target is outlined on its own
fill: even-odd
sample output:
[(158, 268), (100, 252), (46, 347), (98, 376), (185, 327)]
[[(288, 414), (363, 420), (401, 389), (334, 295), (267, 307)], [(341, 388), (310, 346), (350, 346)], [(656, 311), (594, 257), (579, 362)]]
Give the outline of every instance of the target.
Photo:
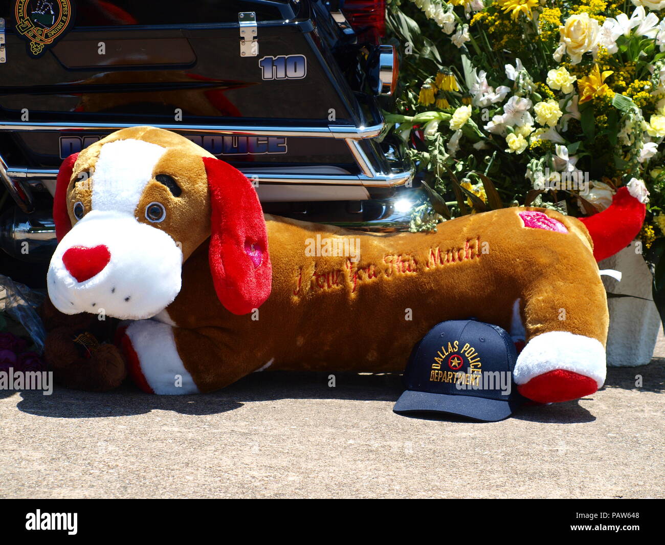
[(48, 298), (41, 307), (41, 316), (47, 331), (44, 359), (57, 383), (104, 392), (124, 381), (127, 366), (118, 347), (112, 344), (117, 319), (100, 320), (86, 312), (63, 314)]

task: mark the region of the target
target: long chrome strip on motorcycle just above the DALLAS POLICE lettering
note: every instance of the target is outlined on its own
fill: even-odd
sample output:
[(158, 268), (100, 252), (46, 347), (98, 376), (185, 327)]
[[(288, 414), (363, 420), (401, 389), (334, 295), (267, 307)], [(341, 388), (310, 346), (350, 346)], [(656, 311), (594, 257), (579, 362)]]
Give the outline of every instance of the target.
[[(136, 125), (134, 123), (23, 123), (19, 121), (0, 122), (0, 131), (28, 132), (28, 131), (110, 131), (121, 128), (130, 128)], [(352, 140), (362, 140), (364, 138), (374, 138), (381, 133), (384, 122), (368, 127), (350, 127), (344, 125), (329, 125), (318, 127), (284, 127), (284, 126), (249, 126), (249, 125), (219, 125), (211, 127), (209, 125), (186, 125), (186, 124), (154, 124), (150, 125), (166, 130), (176, 132), (198, 132), (203, 134), (235, 134), (243, 136), (313, 136), (317, 138), (343, 138)]]

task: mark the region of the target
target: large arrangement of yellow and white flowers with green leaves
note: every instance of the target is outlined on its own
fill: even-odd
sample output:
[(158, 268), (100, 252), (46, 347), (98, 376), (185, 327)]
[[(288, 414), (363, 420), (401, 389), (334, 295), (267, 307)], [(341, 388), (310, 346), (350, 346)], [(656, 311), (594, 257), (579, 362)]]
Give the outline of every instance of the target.
[[(665, 0), (392, 0), (386, 118), (424, 192), (412, 230), (503, 206), (648, 199), (637, 251), (665, 315)], [(663, 10), (665, 15), (665, 9)]]

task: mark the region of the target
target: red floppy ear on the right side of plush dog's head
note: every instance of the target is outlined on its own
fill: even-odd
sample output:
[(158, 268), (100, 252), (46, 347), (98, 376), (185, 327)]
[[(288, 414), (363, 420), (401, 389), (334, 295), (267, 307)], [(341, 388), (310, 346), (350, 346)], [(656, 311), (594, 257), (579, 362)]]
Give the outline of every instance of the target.
[(203, 157), (210, 192), (210, 272), (217, 297), (247, 314), (270, 295), (273, 268), (261, 203), (249, 180), (230, 164)]

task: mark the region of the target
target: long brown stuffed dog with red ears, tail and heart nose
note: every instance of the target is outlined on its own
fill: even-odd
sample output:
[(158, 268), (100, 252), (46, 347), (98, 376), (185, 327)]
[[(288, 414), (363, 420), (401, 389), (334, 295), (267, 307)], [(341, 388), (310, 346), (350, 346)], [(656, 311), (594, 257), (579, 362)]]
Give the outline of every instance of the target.
[(626, 246), (644, 204), (621, 188), (588, 228), (504, 208), (432, 233), (352, 232), (264, 216), (238, 170), (138, 126), (63, 162), (54, 217), (51, 301), (132, 320), (120, 342), (147, 392), (209, 392), (268, 367), (402, 371), (431, 327), (475, 317), (523, 335), (513, 378), (547, 403), (603, 384), (608, 311), (592, 239), (597, 258)]

